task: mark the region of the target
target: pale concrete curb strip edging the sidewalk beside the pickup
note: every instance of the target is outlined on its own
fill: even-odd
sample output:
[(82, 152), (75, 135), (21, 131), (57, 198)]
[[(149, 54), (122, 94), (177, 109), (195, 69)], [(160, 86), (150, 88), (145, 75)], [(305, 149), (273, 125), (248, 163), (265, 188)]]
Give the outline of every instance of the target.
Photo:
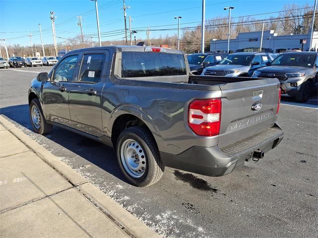
[(97, 205), (99, 208), (102, 208), (115, 220), (115, 223), (119, 223), (122, 229), (129, 231), (129, 233), (136, 238), (160, 238), (156, 232), (151, 230), (138, 218), (112, 200), (111, 197), (100, 191), (92, 183), (87, 182), (86, 179), (72, 170), (72, 168), (57, 159), (44, 147), (33, 141), (28, 135), (17, 128), (13, 123), (0, 115), (0, 128), (1, 124), (14, 134), (23, 144), (33, 150), (42, 160), (64, 176), (71, 184), (76, 186), (77, 189), (87, 199), (93, 202), (95, 206)]

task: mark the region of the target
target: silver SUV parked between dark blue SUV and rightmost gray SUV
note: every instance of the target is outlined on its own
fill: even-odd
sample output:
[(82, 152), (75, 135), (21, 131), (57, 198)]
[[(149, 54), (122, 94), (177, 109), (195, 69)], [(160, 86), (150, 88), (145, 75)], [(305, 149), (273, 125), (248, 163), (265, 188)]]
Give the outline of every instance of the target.
[(254, 70), (266, 66), (274, 59), (272, 54), (241, 52), (223, 59), (218, 65), (206, 67), (201, 75), (250, 77)]

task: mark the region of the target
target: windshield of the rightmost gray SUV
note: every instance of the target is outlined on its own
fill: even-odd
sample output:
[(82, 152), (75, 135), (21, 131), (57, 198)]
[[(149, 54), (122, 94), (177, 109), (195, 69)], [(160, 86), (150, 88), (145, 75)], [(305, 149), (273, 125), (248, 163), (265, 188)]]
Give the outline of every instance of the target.
[(282, 54), (271, 62), (270, 65), (302, 66), (311, 68), (316, 55), (313, 54)]

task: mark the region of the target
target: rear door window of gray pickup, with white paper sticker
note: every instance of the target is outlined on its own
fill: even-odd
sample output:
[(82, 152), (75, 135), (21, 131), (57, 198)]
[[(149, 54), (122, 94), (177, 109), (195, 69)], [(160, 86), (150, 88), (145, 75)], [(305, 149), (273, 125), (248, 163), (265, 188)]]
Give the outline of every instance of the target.
[(104, 54), (84, 55), (79, 70), (79, 81), (91, 83), (99, 82), (104, 60)]

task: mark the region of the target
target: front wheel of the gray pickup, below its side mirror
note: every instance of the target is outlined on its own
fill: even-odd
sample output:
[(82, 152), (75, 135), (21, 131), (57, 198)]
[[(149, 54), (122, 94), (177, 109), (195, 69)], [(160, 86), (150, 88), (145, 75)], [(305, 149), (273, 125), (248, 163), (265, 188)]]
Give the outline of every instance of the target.
[(53, 125), (47, 123), (38, 99), (33, 99), (29, 105), (29, 115), (33, 130), (38, 134), (47, 134)]

